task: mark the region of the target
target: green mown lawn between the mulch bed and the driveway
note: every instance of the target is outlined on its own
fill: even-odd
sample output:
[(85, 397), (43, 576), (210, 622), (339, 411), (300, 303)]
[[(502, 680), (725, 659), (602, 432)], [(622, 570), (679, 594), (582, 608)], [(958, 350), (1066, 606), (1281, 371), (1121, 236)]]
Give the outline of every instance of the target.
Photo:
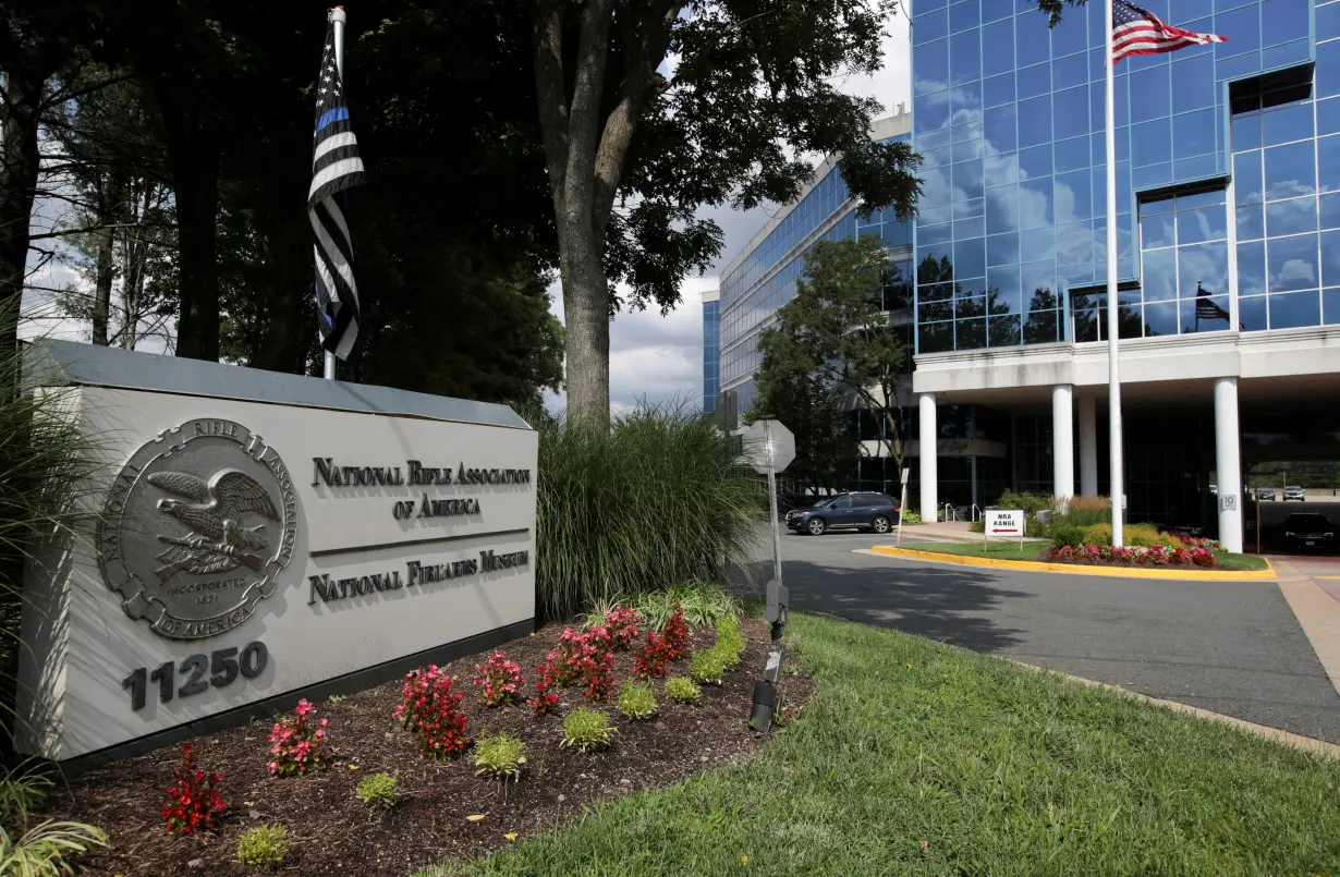
[(817, 688), (761, 755), (422, 877), (1340, 873), (1340, 762), (898, 632), (791, 621)]

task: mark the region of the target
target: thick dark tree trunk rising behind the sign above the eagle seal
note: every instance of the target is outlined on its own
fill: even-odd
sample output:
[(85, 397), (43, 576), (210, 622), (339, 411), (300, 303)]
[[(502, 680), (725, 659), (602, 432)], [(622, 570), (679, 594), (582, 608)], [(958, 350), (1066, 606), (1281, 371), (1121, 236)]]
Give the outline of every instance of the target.
[(177, 355), (218, 362), (218, 131), (176, 83), (157, 84), (177, 196)]

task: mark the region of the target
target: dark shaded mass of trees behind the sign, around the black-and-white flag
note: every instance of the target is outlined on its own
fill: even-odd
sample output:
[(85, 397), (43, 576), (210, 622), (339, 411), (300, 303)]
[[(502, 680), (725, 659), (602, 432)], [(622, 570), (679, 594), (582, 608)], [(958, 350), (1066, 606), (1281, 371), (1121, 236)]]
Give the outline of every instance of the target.
[[(68, 299), (70, 312), (99, 323), (92, 341), (123, 339), (117, 308), (146, 300), (147, 292), (135, 296), (146, 283), (168, 291), (151, 304), (166, 307), (180, 355), (318, 373), (306, 194), (326, 30), (319, 8), (78, 5), (87, 17), (50, 15), (35, 0), (0, 11), (0, 68), (12, 98), (0, 109), (4, 148), (20, 160), (0, 174), (0, 220), (23, 217), (0, 231), (27, 231), (35, 196), (74, 204), (42, 243), (58, 243), (88, 274)], [(364, 320), (342, 377), (535, 401), (561, 381), (561, 329), (545, 292), (555, 236), (525, 11), (494, 0), (389, 0), (373, 13), (354, 9), (346, 35), (346, 89), (368, 185), (347, 209)], [(107, 223), (90, 207), (99, 189), (126, 189), (103, 178), (109, 143), (119, 142), (113, 127), (88, 123), (115, 90), (143, 114), (143, 150), (115, 156), (115, 180), (155, 180), (165, 194), (155, 216), (165, 233), (135, 241), (168, 259), (143, 274), (135, 268), (145, 253), (137, 261), (133, 247), (115, 241), (109, 264), (94, 231)], [(103, 212), (121, 225), (134, 198), (111, 201)], [(31, 243), (0, 240), (7, 307), (17, 307)], [(98, 303), (109, 299), (114, 325), (105, 335)]]

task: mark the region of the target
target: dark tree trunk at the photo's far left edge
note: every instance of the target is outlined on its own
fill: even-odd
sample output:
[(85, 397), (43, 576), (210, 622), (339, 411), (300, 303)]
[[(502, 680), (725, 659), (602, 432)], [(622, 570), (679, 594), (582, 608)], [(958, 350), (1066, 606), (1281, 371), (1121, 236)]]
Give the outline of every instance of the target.
[(38, 119), (47, 71), (5, 70), (7, 101), (0, 101), (0, 346), (19, 342), (19, 311), (28, 263), (28, 223), (38, 190)]

